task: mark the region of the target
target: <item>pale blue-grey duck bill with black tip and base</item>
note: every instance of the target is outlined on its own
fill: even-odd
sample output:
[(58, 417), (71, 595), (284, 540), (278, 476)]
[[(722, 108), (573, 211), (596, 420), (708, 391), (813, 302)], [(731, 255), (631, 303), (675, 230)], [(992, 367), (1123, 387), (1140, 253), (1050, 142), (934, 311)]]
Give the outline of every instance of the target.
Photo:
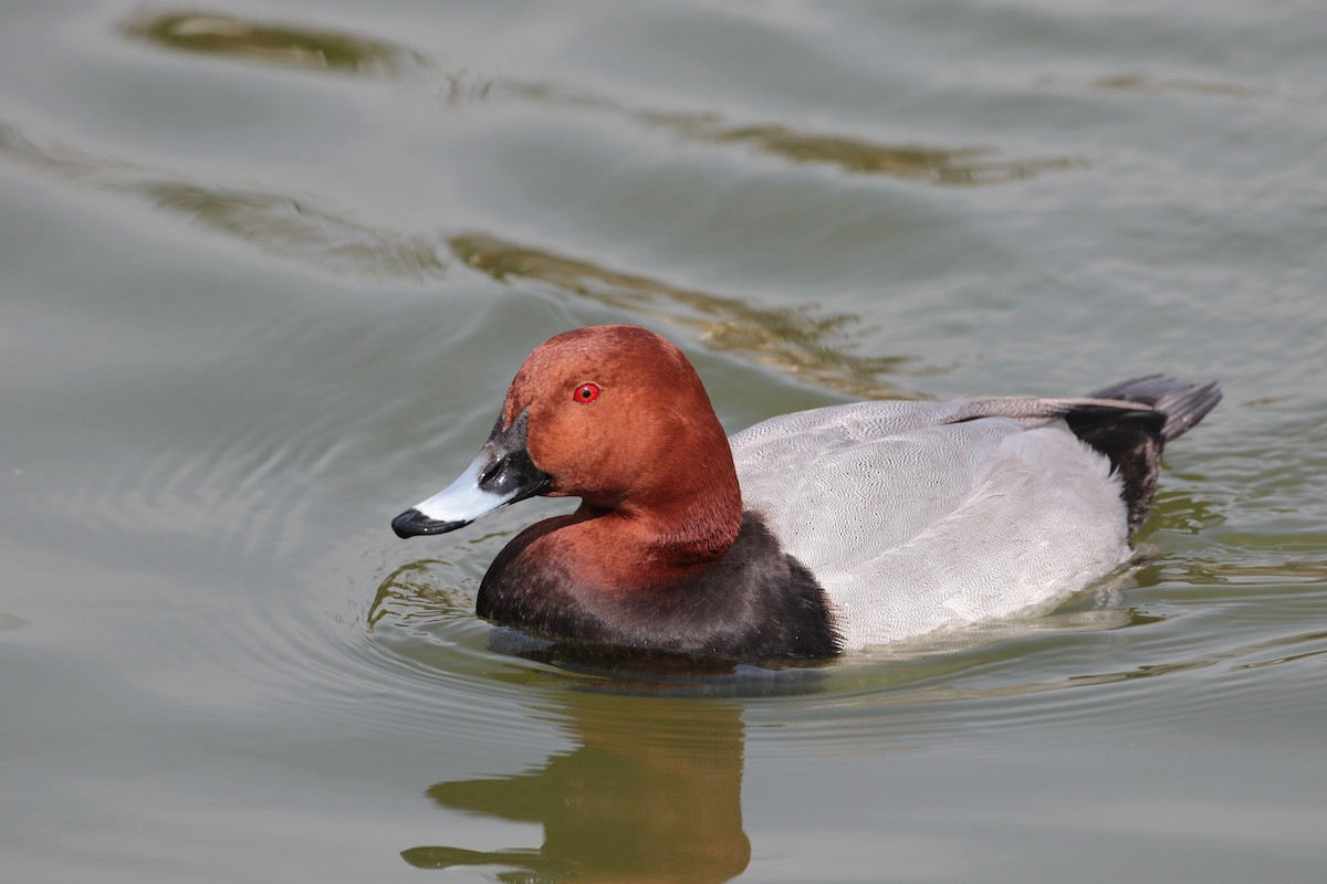
[(508, 504), (541, 494), (552, 482), (552, 476), (531, 460), (525, 447), (528, 432), (528, 408), (506, 428), (499, 415), (488, 441), (466, 472), (429, 500), (391, 520), (391, 530), (397, 537), (446, 534)]

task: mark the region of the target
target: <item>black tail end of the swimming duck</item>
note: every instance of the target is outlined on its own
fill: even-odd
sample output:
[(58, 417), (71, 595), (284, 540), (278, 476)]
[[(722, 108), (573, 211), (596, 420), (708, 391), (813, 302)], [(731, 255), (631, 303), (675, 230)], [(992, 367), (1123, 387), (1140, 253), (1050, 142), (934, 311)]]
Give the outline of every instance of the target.
[(1147, 375), (1104, 387), (1095, 399), (1115, 399), (1148, 406), (1078, 406), (1064, 415), (1074, 435), (1111, 459), (1124, 480), (1124, 504), (1129, 509), (1132, 535), (1148, 516), (1161, 469), (1165, 443), (1186, 433), (1221, 402), (1214, 382), (1194, 384), (1165, 375)]

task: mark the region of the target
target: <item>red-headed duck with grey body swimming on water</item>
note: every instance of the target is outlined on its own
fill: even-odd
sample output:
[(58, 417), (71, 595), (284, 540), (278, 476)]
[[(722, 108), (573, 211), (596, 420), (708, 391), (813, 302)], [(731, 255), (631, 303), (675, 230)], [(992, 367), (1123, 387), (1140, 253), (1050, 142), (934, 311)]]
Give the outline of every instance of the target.
[(496, 555), (479, 616), (553, 643), (819, 660), (1011, 618), (1132, 555), (1161, 453), (1217, 383), (873, 400), (729, 436), (686, 355), (634, 325), (539, 345), (487, 441), (401, 538), (579, 498)]

